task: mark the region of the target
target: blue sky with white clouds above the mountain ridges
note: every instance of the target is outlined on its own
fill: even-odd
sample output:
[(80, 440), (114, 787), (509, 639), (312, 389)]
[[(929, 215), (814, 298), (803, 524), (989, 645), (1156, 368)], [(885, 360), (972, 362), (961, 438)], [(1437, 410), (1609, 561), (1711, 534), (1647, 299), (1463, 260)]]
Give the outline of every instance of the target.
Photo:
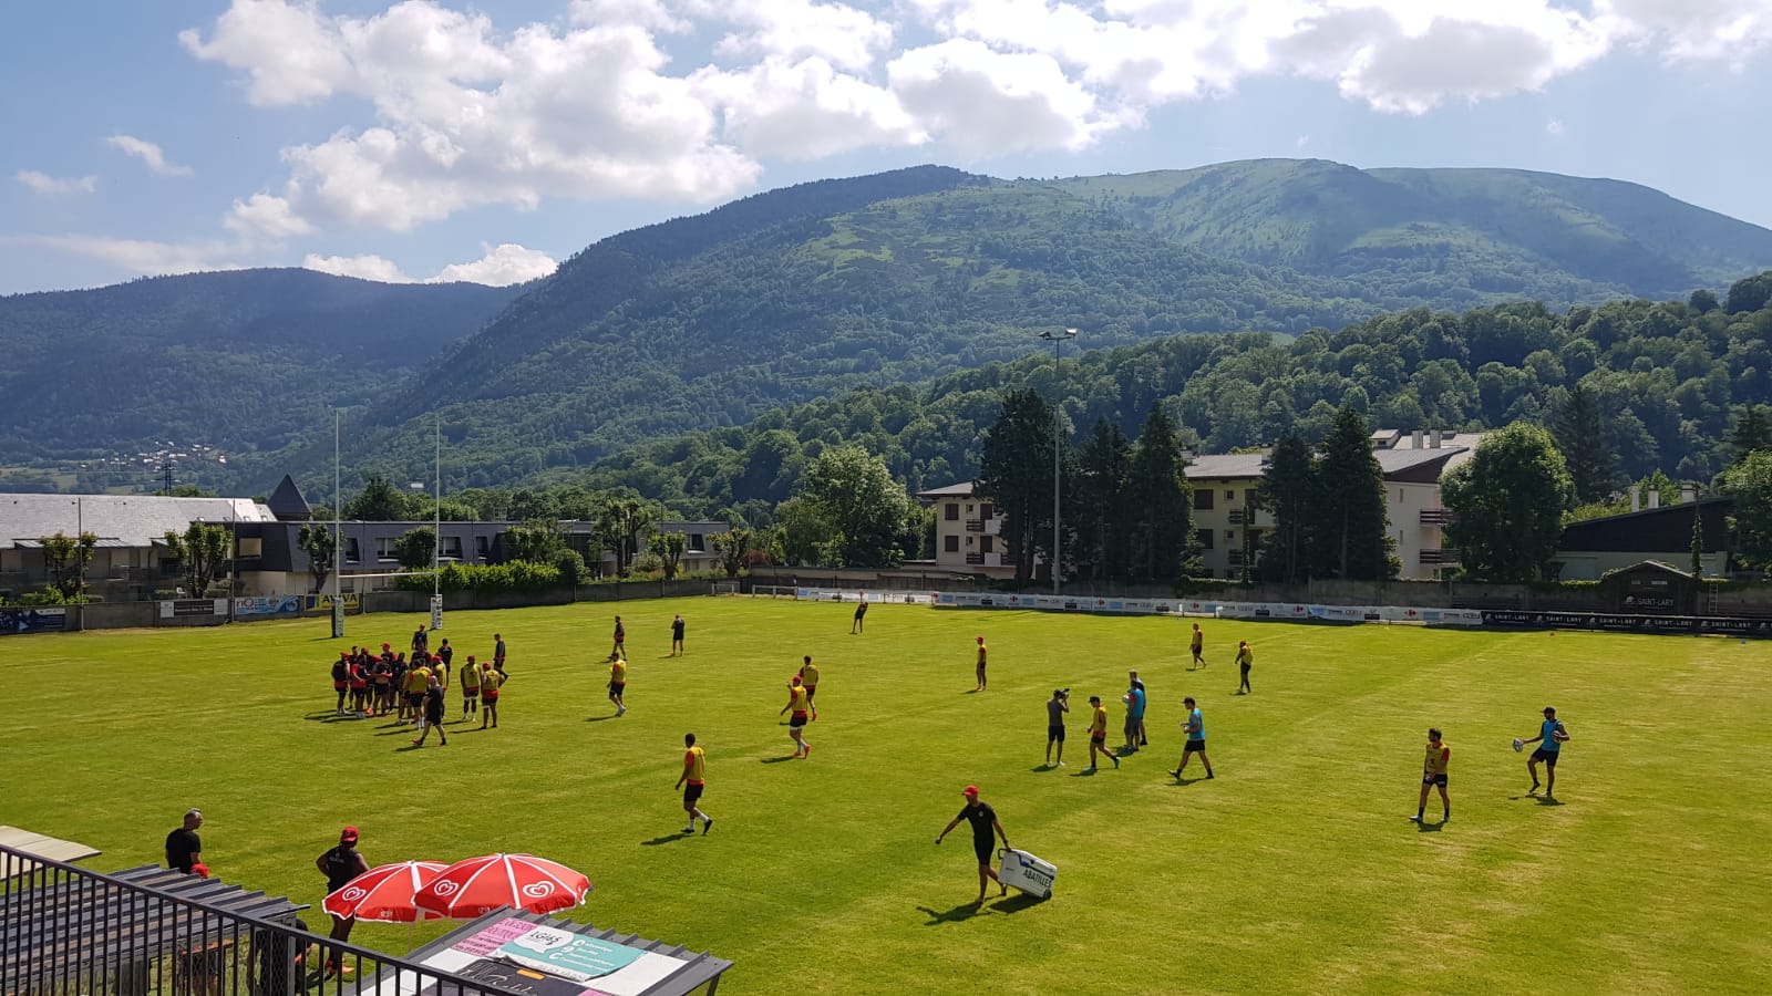
[(1772, 0), (67, 0), (0, 32), (0, 294), (505, 285), (804, 183), (1324, 158), (1772, 227)]

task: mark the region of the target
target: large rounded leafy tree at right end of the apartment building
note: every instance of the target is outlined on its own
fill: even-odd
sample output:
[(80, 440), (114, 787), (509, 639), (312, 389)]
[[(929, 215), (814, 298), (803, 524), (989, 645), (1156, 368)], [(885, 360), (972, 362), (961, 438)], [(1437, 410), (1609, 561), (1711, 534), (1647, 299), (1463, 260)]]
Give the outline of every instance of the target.
[(1465, 574), (1478, 581), (1535, 581), (1563, 537), (1575, 484), (1549, 432), (1515, 422), (1483, 438), (1441, 482), (1446, 526)]

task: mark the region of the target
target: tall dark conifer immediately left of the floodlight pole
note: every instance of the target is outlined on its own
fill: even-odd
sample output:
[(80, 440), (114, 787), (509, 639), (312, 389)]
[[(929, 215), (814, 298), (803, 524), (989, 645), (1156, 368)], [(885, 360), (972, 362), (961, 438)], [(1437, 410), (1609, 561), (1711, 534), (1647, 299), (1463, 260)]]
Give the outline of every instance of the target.
[[(1015, 558), (1015, 583), (1033, 576), (1033, 558), (1053, 562), (1053, 408), (1031, 390), (1003, 397), (985, 431), (975, 493), (1003, 512), (1003, 542)], [(1058, 576), (1058, 574), (1054, 574)]]

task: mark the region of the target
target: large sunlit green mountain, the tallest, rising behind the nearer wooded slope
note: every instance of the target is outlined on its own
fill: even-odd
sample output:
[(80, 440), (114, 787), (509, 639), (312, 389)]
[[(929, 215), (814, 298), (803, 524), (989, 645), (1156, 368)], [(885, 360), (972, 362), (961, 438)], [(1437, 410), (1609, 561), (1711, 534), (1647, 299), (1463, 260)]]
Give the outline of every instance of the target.
[[(1276, 160), (1058, 183), (920, 167), (590, 246), (370, 404), (347, 463), (416, 473), (441, 413), (452, 477), (493, 486), (1015, 360), (1038, 330), (1079, 328), (1090, 347), (1301, 335), (1414, 307), (1683, 298), (1768, 264), (1772, 230), (1613, 181)], [(287, 463), (319, 473), (324, 450)]]

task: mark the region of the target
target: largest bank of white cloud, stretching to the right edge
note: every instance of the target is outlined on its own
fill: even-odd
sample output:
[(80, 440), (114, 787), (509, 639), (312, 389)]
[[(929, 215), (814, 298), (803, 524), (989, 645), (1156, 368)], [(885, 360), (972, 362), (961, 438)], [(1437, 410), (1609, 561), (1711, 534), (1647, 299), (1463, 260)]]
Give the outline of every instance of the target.
[[(236, 204), (230, 229), (711, 204), (764, 160), (1077, 151), (1260, 76), (1428, 113), (1542, 89), (1620, 44), (1740, 62), (1772, 43), (1767, 0), (571, 0), (507, 25), (447, 2), (462, 9), (232, 0), (179, 35), (236, 69), (252, 105), (372, 108), (284, 149), (287, 186)], [(664, 35), (702, 55), (673, 64)]]

